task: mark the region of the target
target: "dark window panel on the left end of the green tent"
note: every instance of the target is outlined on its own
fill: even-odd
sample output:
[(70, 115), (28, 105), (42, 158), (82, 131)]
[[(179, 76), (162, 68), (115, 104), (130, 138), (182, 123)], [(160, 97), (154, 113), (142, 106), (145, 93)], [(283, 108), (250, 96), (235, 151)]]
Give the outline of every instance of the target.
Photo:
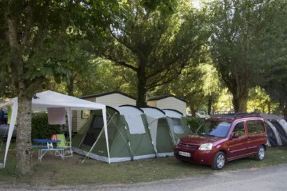
[(104, 127), (104, 121), (102, 116), (95, 116), (91, 125), (89, 126), (89, 130), (86, 133), (86, 137), (84, 138), (84, 145), (93, 146), (93, 143), (97, 140), (102, 128)]

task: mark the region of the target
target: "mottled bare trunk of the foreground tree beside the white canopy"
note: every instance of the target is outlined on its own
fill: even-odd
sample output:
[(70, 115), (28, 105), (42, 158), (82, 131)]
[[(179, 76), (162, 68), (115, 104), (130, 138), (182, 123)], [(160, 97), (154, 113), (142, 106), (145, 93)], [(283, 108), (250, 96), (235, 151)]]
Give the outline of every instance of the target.
[(31, 104), (32, 98), (26, 96), (18, 97), (16, 168), (21, 174), (27, 174), (32, 168)]

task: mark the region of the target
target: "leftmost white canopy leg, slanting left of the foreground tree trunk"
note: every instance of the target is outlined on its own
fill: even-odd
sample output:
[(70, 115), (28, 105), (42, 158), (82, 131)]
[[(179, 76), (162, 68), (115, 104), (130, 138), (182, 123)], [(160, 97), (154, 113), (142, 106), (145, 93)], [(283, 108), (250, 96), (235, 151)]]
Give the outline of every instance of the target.
[(7, 154), (8, 154), (8, 150), (9, 150), (9, 146), (10, 146), (13, 130), (14, 130), (14, 127), (15, 127), (17, 115), (18, 115), (18, 98), (16, 97), (13, 100), (13, 108), (12, 108), (12, 114), (11, 114), (11, 119), (10, 119), (9, 131), (8, 131), (8, 139), (7, 139), (7, 142), (6, 142), (6, 150), (5, 150), (5, 157), (4, 157), (4, 162), (3, 162), (3, 168), (5, 168), (5, 165), (6, 165)]

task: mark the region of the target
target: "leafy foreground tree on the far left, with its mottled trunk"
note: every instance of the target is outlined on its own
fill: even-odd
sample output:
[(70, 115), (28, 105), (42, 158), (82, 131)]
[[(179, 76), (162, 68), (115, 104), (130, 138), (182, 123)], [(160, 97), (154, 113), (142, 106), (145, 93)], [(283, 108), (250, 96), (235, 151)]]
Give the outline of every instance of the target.
[(19, 101), (16, 152), (19, 172), (26, 174), (31, 169), (33, 94), (49, 76), (55, 77), (57, 82), (67, 81), (67, 76), (71, 76), (71, 64), (77, 57), (75, 43), (83, 36), (78, 28), (84, 28), (85, 18), (100, 21), (100, 11), (98, 15), (91, 15), (89, 11), (104, 11), (108, 3), (0, 1), (1, 69), (11, 77)]

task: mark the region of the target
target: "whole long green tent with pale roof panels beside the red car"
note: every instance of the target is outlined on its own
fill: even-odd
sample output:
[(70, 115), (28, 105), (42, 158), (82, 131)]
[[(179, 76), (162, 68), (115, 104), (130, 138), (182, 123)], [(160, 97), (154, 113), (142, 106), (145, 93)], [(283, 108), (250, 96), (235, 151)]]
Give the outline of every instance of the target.
[(109, 150), (105, 141), (102, 113), (95, 110), (73, 137), (73, 151), (109, 163), (171, 157), (176, 143), (172, 124), (173, 119), (157, 108), (107, 106)]

